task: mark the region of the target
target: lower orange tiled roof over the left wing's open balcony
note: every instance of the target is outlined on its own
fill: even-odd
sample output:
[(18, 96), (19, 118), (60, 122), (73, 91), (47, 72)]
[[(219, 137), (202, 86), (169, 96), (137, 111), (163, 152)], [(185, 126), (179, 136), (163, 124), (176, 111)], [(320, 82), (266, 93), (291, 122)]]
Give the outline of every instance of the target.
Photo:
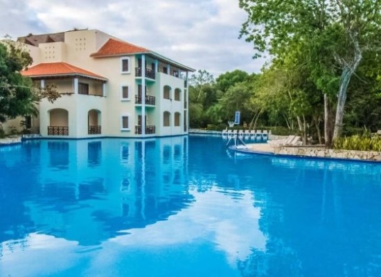
[(57, 75), (85, 75), (86, 77), (107, 80), (96, 73), (80, 69), (66, 62), (48, 62), (31, 66), (21, 74), (28, 77), (57, 76)]

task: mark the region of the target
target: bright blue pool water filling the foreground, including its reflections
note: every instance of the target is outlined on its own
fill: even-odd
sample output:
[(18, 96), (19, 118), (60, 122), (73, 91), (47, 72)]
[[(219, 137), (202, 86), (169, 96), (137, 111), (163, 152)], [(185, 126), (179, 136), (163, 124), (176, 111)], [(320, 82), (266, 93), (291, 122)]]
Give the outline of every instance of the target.
[(381, 165), (226, 141), (0, 148), (0, 276), (381, 276)]

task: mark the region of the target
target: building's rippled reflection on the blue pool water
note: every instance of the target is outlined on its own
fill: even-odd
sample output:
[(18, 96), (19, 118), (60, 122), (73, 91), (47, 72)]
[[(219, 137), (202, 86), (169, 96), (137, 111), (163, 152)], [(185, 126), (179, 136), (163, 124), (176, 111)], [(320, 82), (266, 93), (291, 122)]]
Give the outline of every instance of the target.
[[(19, 221), (30, 222), (24, 235), (37, 231), (94, 245), (121, 230), (166, 220), (193, 201), (187, 193), (184, 166), (187, 143), (187, 136), (151, 141), (40, 141), (36, 191), (33, 197), (18, 192), (26, 207)], [(172, 181), (177, 186), (171, 186)], [(17, 218), (1, 221), (4, 229), (12, 229), (4, 224), (13, 224)], [(5, 240), (20, 238), (5, 233)]]

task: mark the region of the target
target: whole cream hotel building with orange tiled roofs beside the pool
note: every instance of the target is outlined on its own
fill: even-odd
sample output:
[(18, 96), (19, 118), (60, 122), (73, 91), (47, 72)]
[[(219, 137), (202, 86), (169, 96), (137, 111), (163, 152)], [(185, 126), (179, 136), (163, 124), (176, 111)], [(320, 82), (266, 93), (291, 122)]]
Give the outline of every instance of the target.
[(188, 133), (190, 67), (99, 30), (28, 35), (19, 42), (33, 57), (23, 75), (41, 87), (54, 84), (61, 94), (40, 102), (33, 132), (77, 139)]

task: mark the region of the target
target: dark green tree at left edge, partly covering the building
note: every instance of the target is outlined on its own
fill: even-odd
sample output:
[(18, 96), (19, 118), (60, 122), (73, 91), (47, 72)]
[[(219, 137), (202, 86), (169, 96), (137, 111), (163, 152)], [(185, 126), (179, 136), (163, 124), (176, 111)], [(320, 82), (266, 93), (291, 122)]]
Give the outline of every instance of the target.
[(32, 64), (32, 58), (10, 40), (0, 43), (0, 123), (17, 116), (37, 115), (37, 103), (42, 98), (53, 102), (60, 97), (54, 86), (35, 87), (20, 71)]

